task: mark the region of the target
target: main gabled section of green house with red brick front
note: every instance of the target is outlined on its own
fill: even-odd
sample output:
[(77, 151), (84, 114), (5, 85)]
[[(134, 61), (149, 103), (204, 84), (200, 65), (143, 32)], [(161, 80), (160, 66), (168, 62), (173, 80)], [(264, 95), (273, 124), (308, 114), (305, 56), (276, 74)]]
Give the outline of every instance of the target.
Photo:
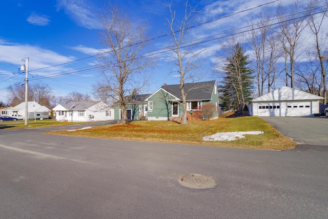
[[(180, 120), (182, 117), (182, 98), (180, 85), (164, 84), (145, 101), (148, 104), (148, 120)], [(211, 119), (219, 116), (219, 98), (216, 81), (186, 83), (187, 119), (201, 120), (202, 108), (207, 104), (215, 106)], [(210, 106), (210, 105), (209, 105)], [(190, 112), (193, 112), (192, 114)]]

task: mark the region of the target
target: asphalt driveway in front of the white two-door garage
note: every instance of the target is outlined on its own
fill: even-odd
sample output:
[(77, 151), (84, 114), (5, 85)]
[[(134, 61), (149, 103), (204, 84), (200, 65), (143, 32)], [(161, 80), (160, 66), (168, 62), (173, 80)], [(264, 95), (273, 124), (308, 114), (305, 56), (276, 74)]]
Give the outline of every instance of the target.
[(324, 116), (261, 118), (299, 145), (328, 146), (328, 118)]

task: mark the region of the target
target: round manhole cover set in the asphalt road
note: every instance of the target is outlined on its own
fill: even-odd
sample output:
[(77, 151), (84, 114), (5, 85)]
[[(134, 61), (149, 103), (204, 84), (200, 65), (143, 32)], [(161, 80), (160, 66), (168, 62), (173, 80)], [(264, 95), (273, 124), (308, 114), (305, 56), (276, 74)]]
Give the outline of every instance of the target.
[(210, 176), (196, 173), (182, 176), (179, 183), (191, 189), (211, 189), (216, 186), (215, 181)]

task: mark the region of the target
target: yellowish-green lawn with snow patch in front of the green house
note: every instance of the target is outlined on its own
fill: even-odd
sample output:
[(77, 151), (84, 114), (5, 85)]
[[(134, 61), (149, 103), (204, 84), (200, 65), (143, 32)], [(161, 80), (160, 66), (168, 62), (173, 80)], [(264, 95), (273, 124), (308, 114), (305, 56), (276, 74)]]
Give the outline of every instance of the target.
[[(245, 138), (231, 142), (202, 140), (203, 136), (217, 132), (234, 131), (263, 131), (264, 134), (245, 135)], [(134, 121), (128, 125), (98, 126), (71, 132), (47, 132), (47, 134), (268, 150), (285, 150), (296, 146), (269, 123), (254, 116), (218, 118), (212, 121), (188, 121), (188, 125), (171, 121)]]

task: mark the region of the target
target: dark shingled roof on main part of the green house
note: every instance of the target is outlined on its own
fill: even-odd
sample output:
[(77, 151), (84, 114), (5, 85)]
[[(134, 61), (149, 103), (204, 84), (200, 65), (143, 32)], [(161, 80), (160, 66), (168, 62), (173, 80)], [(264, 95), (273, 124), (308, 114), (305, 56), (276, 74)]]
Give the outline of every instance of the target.
[[(185, 92), (187, 93), (187, 101), (206, 101), (212, 97), (215, 81), (186, 83)], [(162, 89), (182, 99), (180, 85), (163, 85)]]

